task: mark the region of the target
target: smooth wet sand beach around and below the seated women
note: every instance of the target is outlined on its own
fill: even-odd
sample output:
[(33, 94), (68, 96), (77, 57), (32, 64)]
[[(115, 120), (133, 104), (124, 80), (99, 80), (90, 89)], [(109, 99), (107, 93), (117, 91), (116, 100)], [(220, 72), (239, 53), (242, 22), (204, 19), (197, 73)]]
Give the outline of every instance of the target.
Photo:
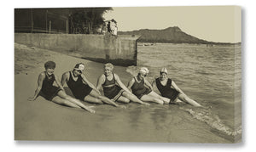
[[(231, 143), (177, 105), (131, 103), (123, 110), (102, 104), (95, 105), (96, 114), (90, 114), (54, 104), (40, 96), (28, 101), (47, 60), (55, 61), (55, 75), (59, 79), (79, 62), (85, 64), (85, 76), (95, 85), (103, 72), (100, 63), (15, 43), (15, 140)], [(125, 70), (120, 66), (114, 68), (126, 85), (131, 75)], [(68, 89), (67, 93), (71, 95)]]

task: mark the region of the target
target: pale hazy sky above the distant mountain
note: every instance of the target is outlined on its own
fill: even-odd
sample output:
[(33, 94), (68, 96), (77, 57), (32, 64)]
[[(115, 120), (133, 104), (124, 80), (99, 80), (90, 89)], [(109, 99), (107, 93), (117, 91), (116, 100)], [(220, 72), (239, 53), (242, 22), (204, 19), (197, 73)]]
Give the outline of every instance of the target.
[(113, 8), (104, 15), (119, 31), (178, 26), (187, 34), (212, 42), (241, 42), (241, 9), (234, 6)]

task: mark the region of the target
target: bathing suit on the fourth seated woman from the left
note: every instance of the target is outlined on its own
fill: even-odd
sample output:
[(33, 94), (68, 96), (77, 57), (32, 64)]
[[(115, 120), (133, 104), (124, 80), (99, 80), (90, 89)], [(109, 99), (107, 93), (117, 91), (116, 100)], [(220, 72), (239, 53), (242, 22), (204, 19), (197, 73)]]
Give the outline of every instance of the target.
[(144, 86), (144, 80), (142, 80), (141, 82), (137, 82), (135, 77), (134, 79), (135, 79), (135, 82), (131, 86), (131, 90), (132, 90), (132, 93), (135, 94), (138, 99), (141, 99), (143, 95), (146, 95), (152, 92), (151, 89)]

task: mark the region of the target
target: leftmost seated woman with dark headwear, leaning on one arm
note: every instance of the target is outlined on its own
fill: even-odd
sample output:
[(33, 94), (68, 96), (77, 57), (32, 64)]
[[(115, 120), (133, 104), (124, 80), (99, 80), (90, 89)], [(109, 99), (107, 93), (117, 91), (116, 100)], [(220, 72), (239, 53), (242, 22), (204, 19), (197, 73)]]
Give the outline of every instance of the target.
[[(82, 108), (88, 110), (91, 113), (95, 113), (95, 110), (90, 109), (89, 106), (85, 106), (78, 99), (73, 99), (68, 96), (57, 76), (54, 75), (55, 62), (48, 61), (44, 64), (45, 71), (41, 72), (38, 76), (38, 87), (35, 91), (34, 97), (28, 100), (35, 100), (38, 98), (39, 93), (44, 94), (44, 98), (53, 101), (56, 104), (67, 105), (69, 107)], [(53, 86), (56, 82), (58, 87)]]

